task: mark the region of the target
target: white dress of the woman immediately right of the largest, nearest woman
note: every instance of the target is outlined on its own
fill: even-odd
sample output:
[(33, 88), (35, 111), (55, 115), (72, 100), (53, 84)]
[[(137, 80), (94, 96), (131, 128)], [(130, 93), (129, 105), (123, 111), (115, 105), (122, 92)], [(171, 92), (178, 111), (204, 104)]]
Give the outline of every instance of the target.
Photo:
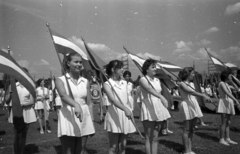
[[(131, 111), (131, 108), (129, 107), (129, 104), (128, 104), (128, 97), (127, 97), (127, 82), (124, 80), (120, 80), (118, 84), (111, 78), (108, 81), (113, 86), (117, 95), (121, 99), (123, 105), (128, 107), (128, 109)], [(105, 83), (111, 88), (108, 82), (105, 82)], [(118, 97), (115, 95), (114, 92), (113, 94), (115, 99), (118, 100)], [(116, 107), (113, 103), (111, 103), (110, 100), (109, 100), (109, 103), (110, 103), (110, 106), (108, 106), (108, 111), (105, 116), (104, 129), (112, 133), (123, 133), (123, 134), (134, 133), (136, 129), (132, 121), (126, 117), (125, 112), (119, 109), (118, 107)]]

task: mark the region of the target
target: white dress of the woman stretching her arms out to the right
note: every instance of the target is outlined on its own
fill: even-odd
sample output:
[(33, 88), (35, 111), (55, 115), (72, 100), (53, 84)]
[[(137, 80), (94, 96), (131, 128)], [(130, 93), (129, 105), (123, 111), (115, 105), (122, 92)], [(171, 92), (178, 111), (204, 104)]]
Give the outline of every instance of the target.
[[(186, 84), (186, 83), (181, 82), (181, 84)], [(195, 89), (193, 83), (189, 83), (189, 85), (191, 85), (191, 87)], [(191, 88), (189, 87), (189, 89)], [(182, 89), (179, 89), (179, 92), (183, 99), (183, 101), (179, 105), (180, 119), (185, 121), (185, 120), (191, 120), (196, 117), (197, 118), (202, 117), (203, 114), (202, 114), (201, 108), (199, 107), (196, 97), (189, 95)]]

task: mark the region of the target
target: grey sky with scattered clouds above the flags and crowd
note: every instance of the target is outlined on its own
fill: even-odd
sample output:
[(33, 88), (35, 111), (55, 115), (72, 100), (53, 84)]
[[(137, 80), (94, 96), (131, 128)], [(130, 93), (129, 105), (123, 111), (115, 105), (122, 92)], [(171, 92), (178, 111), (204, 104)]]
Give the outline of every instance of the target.
[[(60, 75), (46, 22), (81, 46), (83, 37), (105, 62), (152, 54), (207, 71), (204, 48), (240, 66), (238, 0), (0, 0), (0, 48), (36, 78)], [(129, 60), (130, 61), (130, 60)], [(134, 78), (137, 68), (130, 63)]]

